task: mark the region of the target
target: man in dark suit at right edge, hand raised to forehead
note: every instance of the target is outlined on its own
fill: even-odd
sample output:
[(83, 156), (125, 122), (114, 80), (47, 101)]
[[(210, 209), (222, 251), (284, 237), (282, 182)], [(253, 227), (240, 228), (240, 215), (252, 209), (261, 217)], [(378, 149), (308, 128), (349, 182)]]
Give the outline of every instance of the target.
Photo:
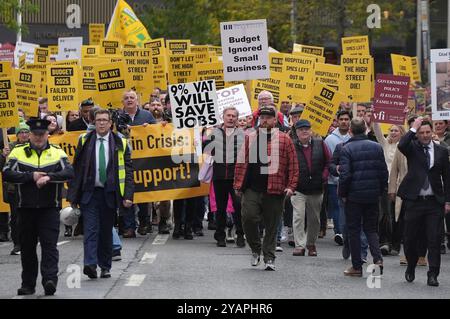
[(400, 140), (398, 149), (407, 158), (408, 173), (400, 184), (398, 196), (405, 205), (404, 246), (408, 260), (405, 278), (408, 282), (415, 279), (417, 240), (422, 238), (419, 233), (425, 225), (429, 264), (427, 284), (439, 286), (441, 228), (444, 212), (450, 211), (450, 180), (448, 151), (432, 141), (432, 134), (431, 122), (419, 117)]

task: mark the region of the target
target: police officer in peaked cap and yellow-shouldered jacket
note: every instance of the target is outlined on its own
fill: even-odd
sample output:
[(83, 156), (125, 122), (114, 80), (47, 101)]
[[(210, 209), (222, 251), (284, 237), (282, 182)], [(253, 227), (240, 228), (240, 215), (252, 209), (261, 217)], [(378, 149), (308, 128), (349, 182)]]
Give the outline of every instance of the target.
[(18, 185), (22, 287), (18, 295), (35, 292), (38, 275), (37, 241), (41, 244), (41, 275), (45, 295), (53, 295), (58, 282), (59, 210), (63, 183), (74, 177), (66, 153), (48, 142), (50, 121), (31, 119), (30, 142), (17, 145), (3, 169), (6, 182)]

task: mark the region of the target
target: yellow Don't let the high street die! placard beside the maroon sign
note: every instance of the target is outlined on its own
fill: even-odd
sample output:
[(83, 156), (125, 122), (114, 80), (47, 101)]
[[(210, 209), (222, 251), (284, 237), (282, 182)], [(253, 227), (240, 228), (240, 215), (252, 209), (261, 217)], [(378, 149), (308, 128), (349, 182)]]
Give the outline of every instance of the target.
[(344, 89), (347, 94), (344, 102), (370, 102), (373, 97), (373, 58), (371, 56), (342, 55), (344, 69)]

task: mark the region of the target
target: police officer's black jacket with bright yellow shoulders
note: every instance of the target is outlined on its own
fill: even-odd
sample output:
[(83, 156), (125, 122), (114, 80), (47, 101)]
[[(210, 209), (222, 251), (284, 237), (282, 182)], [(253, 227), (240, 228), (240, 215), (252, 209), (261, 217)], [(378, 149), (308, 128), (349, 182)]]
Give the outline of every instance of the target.
[[(50, 181), (39, 189), (33, 172), (47, 173)], [(3, 168), (3, 179), (17, 185), (18, 206), (23, 208), (61, 207), (63, 184), (73, 177), (66, 153), (52, 144), (47, 144), (40, 154), (29, 143), (17, 145)]]

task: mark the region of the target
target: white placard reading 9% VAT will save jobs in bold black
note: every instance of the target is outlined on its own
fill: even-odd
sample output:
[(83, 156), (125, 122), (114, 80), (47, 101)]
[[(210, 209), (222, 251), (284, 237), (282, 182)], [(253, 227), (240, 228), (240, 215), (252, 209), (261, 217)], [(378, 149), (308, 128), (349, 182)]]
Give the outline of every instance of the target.
[(173, 124), (179, 129), (219, 124), (214, 80), (169, 85)]

